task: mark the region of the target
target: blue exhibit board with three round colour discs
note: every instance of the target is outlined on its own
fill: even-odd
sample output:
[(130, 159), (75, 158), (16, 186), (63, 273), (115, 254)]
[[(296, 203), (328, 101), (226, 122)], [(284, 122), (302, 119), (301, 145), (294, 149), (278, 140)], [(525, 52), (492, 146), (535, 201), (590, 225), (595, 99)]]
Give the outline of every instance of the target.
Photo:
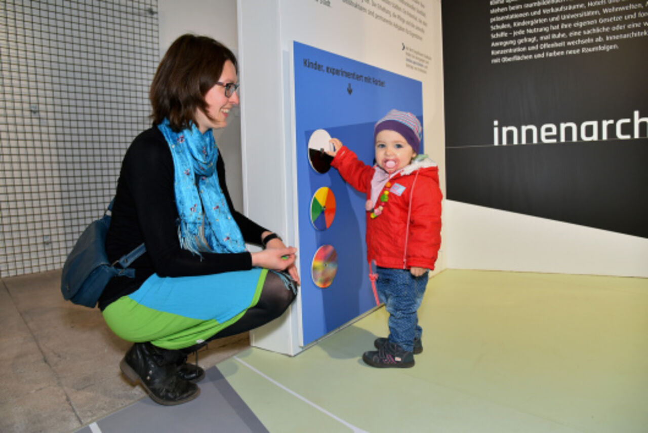
[[(294, 42), (295, 145), (303, 344), (376, 306), (365, 245), (365, 194), (317, 171), (308, 143), (336, 137), (373, 164), (373, 126), (395, 108), (422, 123), (421, 82)], [(325, 132), (321, 131), (324, 130)], [(311, 141), (312, 143), (313, 141)], [(421, 143), (421, 151), (424, 149)], [(326, 265), (329, 261), (329, 266)], [(312, 269), (315, 275), (312, 278)]]

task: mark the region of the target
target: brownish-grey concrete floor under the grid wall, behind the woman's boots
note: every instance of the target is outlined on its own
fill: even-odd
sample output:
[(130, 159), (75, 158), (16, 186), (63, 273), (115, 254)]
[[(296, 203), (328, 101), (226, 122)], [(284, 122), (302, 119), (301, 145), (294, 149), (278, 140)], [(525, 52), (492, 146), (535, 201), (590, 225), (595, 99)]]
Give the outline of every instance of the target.
[[(60, 278), (1, 280), (0, 432), (71, 432), (146, 395), (119, 371), (130, 343), (98, 309), (64, 301)], [(208, 368), (248, 347), (247, 333), (223, 338), (199, 352), (199, 363)]]

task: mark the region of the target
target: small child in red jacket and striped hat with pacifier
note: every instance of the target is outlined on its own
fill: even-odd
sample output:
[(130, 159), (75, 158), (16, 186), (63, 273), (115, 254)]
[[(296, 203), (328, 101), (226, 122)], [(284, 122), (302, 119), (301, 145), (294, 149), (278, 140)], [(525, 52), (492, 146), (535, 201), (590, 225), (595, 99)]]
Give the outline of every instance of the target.
[(389, 337), (362, 355), (373, 367), (412, 367), (413, 354), (423, 350), (417, 310), (441, 245), (442, 197), (436, 163), (418, 155), (421, 135), (413, 114), (389, 111), (374, 127), (373, 167), (339, 139), (330, 141), (332, 167), (367, 194), (367, 259), (370, 269), (376, 265), (378, 298), (389, 312)]

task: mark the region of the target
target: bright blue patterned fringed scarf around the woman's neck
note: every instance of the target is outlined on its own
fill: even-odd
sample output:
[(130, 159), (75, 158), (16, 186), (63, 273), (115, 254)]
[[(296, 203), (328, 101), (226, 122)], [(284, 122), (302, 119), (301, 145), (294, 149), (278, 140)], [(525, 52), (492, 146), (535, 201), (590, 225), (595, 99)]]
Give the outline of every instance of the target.
[(167, 119), (157, 128), (173, 156), (181, 248), (198, 255), (246, 251), (243, 235), (218, 183), (218, 147), (211, 130), (202, 134), (192, 123), (191, 128), (174, 132)]

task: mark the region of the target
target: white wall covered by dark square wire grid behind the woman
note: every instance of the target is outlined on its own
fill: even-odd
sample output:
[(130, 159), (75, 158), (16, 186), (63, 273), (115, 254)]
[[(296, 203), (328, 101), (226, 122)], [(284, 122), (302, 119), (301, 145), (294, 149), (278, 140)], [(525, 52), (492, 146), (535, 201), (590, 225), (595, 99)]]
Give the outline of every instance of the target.
[(63, 266), (150, 125), (156, 0), (0, 2), (0, 277)]

